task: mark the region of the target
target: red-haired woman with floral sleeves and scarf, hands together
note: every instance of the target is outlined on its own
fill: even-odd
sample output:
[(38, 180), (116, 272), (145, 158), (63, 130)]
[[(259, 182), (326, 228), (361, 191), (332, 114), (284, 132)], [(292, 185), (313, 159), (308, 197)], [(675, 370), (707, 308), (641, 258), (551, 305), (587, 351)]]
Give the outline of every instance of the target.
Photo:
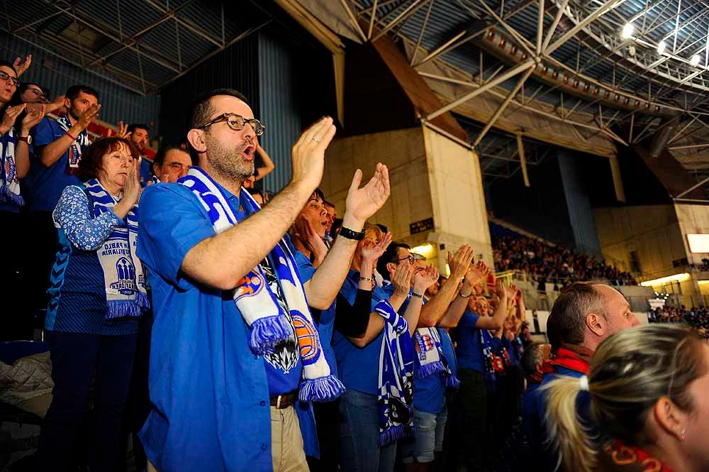
[(138, 172), (133, 144), (99, 139), (79, 161), (84, 183), (66, 187), (52, 214), (60, 243), (45, 329), (54, 390), (40, 435), (38, 470), (67, 468), (94, 376), (89, 466), (116, 468), (138, 317), (149, 307), (143, 264), (135, 256)]

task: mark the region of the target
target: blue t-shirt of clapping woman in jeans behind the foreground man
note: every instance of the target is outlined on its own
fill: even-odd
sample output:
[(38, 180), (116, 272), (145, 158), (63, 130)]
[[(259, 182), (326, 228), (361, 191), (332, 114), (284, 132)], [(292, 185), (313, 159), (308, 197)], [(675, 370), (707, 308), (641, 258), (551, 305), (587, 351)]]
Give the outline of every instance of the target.
[[(354, 296), (357, 295), (357, 285), (359, 285), (359, 272), (350, 270), (340, 289), (340, 294), (350, 304), (354, 303)], [(372, 311), (380, 300), (389, 300), (389, 296), (381, 288), (375, 286), (372, 290)], [(363, 348), (358, 348), (347, 337), (335, 330), (333, 348), (335, 348), (335, 358), (337, 358), (337, 372), (346, 388), (370, 395), (379, 394), (379, 351), (381, 351), (383, 338), (384, 329), (374, 341)]]

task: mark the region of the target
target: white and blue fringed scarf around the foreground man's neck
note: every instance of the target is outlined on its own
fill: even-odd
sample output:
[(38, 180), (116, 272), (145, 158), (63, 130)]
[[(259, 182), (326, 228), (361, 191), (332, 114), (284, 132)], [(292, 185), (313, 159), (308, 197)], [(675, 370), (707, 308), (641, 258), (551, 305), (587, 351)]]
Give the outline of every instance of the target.
[[(207, 210), (217, 234), (241, 221), (217, 183), (200, 168), (190, 168), (186, 177), (182, 177), (178, 182), (188, 187), (199, 199)], [(249, 215), (260, 209), (249, 192), (243, 188), (240, 204)], [(257, 265), (240, 280), (230, 294), (251, 329), (250, 348), (260, 355), (273, 353), (276, 344), (295, 335), (303, 361), (303, 382), (298, 397), (304, 402), (334, 400), (345, 392), (345, 386), (330, 373), (318, 330), (308, 309), (303, 284), (298, 275), (298, 265), (286, 241), (281, 239), (267, 257), (279, 280), (293, 325), (291, 326), (288, 314), (284, 312), (277, 296), (269, 287), (261, 266)]]

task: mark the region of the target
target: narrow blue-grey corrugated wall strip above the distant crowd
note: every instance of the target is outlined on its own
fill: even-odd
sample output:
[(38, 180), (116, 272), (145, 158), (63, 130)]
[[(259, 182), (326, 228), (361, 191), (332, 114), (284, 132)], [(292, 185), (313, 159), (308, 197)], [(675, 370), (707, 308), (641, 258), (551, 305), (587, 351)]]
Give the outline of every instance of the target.
[(596, 221), (593, 219), (591, 197), (581, 168), (583, 157), (559, 148), (558, 158), (576, 249), (601, 256), (601, 243), (598, 241)]

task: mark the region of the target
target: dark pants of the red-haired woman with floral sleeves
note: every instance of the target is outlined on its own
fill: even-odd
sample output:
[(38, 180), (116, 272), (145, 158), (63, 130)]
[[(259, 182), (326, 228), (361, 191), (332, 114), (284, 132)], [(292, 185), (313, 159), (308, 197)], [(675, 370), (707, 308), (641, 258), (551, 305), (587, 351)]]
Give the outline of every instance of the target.
[(89, 438), (92, 472), (115, 471), (121, 417), (133, 369), (136, 335), (48, 333), (52, 357), (52, 404), (42, 425), (38, 471), (67, 469), (74, 437), (86, 414), (91, 378), (96, 376)]

